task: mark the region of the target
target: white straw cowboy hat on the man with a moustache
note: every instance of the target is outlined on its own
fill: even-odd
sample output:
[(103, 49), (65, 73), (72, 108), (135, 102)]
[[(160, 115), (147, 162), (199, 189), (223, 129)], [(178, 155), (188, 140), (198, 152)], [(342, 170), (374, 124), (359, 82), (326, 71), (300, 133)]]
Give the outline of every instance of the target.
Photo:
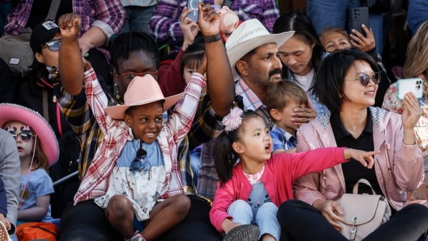
[(294, 31), (271, 34), (258, 19), (249, 19), (238, 26), (226, 41), (226, 51), (231, 63), (233, 79), (240, 79), (235, 64), (251, 50), (264, 44), (275, 43), (280, 47), (293, 37)]

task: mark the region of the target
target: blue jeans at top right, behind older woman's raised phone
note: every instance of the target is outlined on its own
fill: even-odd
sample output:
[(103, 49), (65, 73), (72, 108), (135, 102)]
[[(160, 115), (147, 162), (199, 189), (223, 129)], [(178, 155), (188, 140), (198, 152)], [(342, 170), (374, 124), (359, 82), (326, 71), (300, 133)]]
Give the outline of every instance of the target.
[[(318, 35), (324, 28), (329, 27), (344, 28), (349, 32), (351, 29), (349, 12), (352, 8), (360, 6), (360, 0), (308, 0), (306, 12)], [(376, 41), (376, 52), (382, 55), (384, 45), (383, 15), (370, 13), (369, 17), (370, 28), (373, 30)]]

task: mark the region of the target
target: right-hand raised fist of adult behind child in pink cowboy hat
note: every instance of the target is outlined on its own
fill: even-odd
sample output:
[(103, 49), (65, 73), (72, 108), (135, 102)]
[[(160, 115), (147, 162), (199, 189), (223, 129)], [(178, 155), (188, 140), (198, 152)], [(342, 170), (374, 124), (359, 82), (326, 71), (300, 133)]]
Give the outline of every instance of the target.
[(197, 21), (204, 36), (220, 34), (220, 15), (207, 3), (199, 3), (199, 16)]

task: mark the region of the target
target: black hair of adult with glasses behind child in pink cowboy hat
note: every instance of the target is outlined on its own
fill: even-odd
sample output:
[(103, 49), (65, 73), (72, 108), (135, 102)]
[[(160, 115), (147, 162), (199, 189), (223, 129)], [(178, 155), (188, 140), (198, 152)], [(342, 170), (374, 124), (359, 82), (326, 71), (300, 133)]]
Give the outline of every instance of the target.
[(155, 40), (145, 32), (122, 32), (117, 35), (110, 47), (110, 59), (117, 69), (119, 59), (128, 59), (130, 52), (142, 50), (156, 62), (159, 68), (159, 48)]

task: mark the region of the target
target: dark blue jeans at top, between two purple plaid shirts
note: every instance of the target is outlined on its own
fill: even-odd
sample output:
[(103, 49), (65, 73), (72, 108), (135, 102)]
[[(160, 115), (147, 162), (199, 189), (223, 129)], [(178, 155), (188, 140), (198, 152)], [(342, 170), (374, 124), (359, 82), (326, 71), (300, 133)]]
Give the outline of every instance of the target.
[(153, 15), (156, 5), (153, 6), (126, 6), (126, 18), (120, 32), (146, 32), (148, 34), (148, 22)]

